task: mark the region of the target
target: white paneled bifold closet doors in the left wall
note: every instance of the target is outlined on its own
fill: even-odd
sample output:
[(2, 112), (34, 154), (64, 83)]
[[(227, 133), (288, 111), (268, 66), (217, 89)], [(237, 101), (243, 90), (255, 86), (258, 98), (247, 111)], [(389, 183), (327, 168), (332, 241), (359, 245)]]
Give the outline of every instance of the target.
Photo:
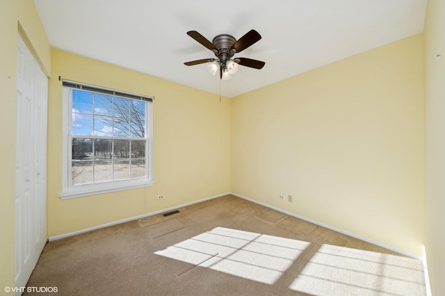
[(18, 35), (15, 284), (26, 286), (47, 241), (48, 79)]

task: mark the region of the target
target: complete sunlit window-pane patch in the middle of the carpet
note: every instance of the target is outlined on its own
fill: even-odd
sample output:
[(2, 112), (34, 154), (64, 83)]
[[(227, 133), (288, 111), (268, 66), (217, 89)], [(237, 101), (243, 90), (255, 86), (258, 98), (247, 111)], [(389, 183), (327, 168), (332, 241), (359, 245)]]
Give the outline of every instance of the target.
[(154, 254), (272, 284), (308, 245), (300, 240), (216, 227)]

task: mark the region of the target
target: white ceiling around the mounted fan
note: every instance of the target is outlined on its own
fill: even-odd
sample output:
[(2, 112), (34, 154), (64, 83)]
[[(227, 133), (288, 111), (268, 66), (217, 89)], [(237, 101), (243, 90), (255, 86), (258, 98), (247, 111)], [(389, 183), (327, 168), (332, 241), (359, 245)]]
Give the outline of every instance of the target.
[[(193, 88), (234, 97), (423, 31), (426, 0), (34, 0), (52, 47)], [(263, 60), (229, 81), (186, 35), (250, 31), (262, 39), (235, 57)]]

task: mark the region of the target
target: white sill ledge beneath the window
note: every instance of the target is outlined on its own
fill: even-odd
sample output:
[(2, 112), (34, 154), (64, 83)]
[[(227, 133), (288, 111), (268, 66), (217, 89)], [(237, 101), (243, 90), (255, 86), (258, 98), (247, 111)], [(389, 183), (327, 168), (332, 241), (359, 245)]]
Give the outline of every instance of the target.
[[(102, 185), (102, 184), (101, 184)], [(128, 185), (118, 185), (118, 186), (111, 186), (113, 184), (106, 184), (105, 186), (100, 186), (97, 188), (91, 188), (91, 186), (79, 186), (72, 190), (65, 190), (61, 195), (58, 197), (60, 199), (73, 199), (77, 197), (88, 197), (91, 195), (102, 195), (104, 193), (111, 193), (111, 192), (118, 192), (123, 190), (131, 190), (131, 189), (137, 189), (137, 188), (144, 188), (153, 186), (153, 181), (147, 181), (143, 183), (133, 183)], [(89, 188), (85, 188), (89, 187)]]

